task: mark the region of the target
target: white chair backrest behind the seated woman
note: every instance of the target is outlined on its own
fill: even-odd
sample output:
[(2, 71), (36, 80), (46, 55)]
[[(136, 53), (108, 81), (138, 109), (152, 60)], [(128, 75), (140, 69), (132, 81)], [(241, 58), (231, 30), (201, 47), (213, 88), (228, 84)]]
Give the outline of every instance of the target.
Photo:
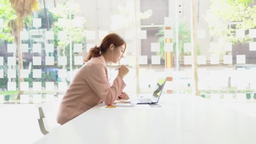
[(42, 104), (38, 104), (39, 111), (38, 124), (40, 131), (46, 135), (52, 128), (59, 126), (56, 121), (56, 114), (59, 107), (58, 101), (48, 101)]

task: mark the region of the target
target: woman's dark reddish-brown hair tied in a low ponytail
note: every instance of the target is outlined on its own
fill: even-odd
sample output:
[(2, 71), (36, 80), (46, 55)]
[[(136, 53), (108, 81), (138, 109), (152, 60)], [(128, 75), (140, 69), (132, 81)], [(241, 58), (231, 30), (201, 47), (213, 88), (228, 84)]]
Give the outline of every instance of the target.
[(104, 37), (104, 39), (101, 41), (100, 46), (95, 45), (95, 47), (90, 49), (90, 51), (88, 52), (88, 56), (85, 59), (85, 62), (89, 61), (93, 57), (101, 56), (101, 53), (105, 53), (111, 44), (113, 44), (115, 47), (124, 44), (126, 49), (126, 43), (123, 40), (123, 38), (117, 35), (116, 33), (111, 33)]

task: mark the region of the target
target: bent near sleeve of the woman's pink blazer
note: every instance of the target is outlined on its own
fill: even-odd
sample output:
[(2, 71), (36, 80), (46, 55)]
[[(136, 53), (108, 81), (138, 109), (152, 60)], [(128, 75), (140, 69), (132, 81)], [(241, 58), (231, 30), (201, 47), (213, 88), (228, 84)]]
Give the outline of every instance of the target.
[(113, 104), (126, 86), (119, 76), (115, 78), (112, 86), (110, 86), (107, 81), (104, 64), (91, 64), (86, 81), (93, 91), (108, 105)]

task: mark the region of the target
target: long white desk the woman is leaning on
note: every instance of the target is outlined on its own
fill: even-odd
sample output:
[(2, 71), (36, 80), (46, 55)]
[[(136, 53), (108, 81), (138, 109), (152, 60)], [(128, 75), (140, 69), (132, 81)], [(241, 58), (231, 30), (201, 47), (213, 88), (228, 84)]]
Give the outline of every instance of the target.
[(97, 105), (36, 144), (256, 144), (256, 119), (195, 96), (166, 95), (165, 109)]

